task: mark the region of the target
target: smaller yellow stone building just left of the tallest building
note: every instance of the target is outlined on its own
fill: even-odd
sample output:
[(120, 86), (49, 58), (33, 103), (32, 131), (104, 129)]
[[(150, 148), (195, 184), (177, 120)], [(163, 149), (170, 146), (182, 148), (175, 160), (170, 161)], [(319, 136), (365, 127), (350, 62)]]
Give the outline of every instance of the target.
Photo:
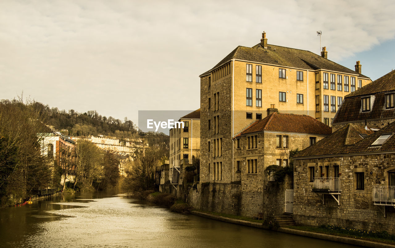
[[(184, 127), (170, 129), (169, 179), (177, 194), (184, 192), (184, 168), (200, 156), (200, 109), (182, 116)], [(166, 181), (165, 181), (166, 182)], [(173, 189), (170, 189), (170, 191)]]

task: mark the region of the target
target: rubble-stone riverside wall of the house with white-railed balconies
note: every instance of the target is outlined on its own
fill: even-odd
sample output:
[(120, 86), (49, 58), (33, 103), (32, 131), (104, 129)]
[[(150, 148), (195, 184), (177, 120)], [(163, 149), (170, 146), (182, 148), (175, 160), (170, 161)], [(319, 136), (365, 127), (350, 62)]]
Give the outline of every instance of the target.
[[(314, 166), (316, 177), (320, 166), (328, 166), (335, 176), (334, 165), (339, 165), (340, 205), (331, 195), (324, 195), (325, 204), (312, 192), (308, 167)], [(293, 218), (298, 224), (338, 225), (372, 231), (395, 233), (395, 210), (386, 206), (387, 217), (380, 211), (384, 206), (374, 205), (372, 186), (388, 186), (388, 171), (395, 170), (394, 154), (355, 155), (321, 159), (298, 159), (294, 162)], [(364, 190), (356, 189), (356, 172), (364, 172)], [(320, 176), (321, 177), (321, 176)]]

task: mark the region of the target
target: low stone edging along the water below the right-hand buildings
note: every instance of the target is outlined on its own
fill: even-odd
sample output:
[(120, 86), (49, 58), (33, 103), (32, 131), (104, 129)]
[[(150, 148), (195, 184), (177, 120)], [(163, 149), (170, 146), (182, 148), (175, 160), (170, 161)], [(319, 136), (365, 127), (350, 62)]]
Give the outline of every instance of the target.
[[(248, 220), (239, 220), (239, 219), (199, 212), (196, 210), (191, 211), (191, 214), (201, 216), (204, 218), (213, 219), (213, 220), (219, 220), (219, 221), (224, 221), (224, 222), (228, 222), (228, 223), (238, 224), (238, 225), (245, 225), (245, 226), (256, 227), (256, 228), (260, 228), (260, 229), (270, 229), (267, 225), (265, 225), (263, 223), (263, 221), (262, 221), (262, 223), (260, 223), (260, 222), (254, 222), (254, 221), (248, 221)], [(340, 242), (340, 243), (344, 243), (344, 244), (352, 244), (352, 245), (363, 246), (363, 247), (395, 248), (395, 245), (393, 245), (393, 244), (384, 244), (384, 243), (380, 243), (380, 242), (374, 242), (371, 240), (354, 239), (354, 238), (350, 238), (350, 237), (341, 237), (341, 236), (337, 236), (337, 235), (329, 235), (329, 234), (324, 234), (324, 233), (303, 231), (303, 230), (292, 229), (289, 227), (279, 227), (275, 231), (279, 231), (279, 232), (283, 232), (283, 233), (290, 233), (293, 235), (299, 235), (299, 236), (310, 237), (310, 238), (315, 238), (315, 239)]]

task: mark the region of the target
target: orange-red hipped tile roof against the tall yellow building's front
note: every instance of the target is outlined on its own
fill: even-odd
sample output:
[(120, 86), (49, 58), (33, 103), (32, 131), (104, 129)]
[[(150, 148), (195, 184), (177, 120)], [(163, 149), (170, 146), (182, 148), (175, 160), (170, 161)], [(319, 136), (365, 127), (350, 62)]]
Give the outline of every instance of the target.
[(331, 127), (320, 121), (317, 121), (309, 115), (283, 114), (275, 112), (259, 121), (252, 123), (236, 137), (261, 131), (322, 135), (329, 135), (332, 133)]

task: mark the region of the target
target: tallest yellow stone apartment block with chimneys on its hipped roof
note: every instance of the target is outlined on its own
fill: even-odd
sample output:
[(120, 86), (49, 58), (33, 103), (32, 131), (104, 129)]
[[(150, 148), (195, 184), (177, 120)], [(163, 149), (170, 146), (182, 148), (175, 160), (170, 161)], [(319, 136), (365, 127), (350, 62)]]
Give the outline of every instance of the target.
[[(214, 182), (217, 163), (222, 164), (220, 182), (235, 181), (232, 138), (262, 119), (271, 104), (282, 113), (310, 115), (329, 125), (343, 97), (371, 82), (359, 62), (350, 70), (328, 60), (325, 47), (319, 56), (267, 44), (262, 36), (259, 44), (236, 47), (200, 75), (202, 183)], [(214, 155), (216, 150), (222, 153)]]

